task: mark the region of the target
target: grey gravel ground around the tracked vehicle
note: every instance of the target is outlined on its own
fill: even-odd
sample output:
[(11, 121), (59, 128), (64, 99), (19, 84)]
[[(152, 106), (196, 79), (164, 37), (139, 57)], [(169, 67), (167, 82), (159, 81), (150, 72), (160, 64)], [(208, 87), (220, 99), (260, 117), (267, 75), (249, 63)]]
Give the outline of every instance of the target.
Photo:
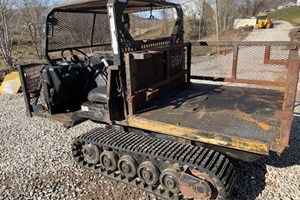
[[(0, 96), (0, 199), (155, 199), (141, 190), (82, 170), (70, 144), (96, 127), (65, 129), (57, 122), (27, 118), (22, 95)], [(300, 199), (300, 118), (282, 157), (239, 162), (234, 199)]]

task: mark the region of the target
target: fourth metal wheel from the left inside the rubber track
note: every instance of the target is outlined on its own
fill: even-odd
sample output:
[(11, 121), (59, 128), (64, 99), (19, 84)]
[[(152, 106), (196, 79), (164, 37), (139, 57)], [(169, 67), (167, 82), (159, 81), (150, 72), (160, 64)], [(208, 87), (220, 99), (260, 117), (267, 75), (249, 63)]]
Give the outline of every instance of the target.
[(145, 161), (138, 167), (138, 176), (148, 185), (155, 185), (159, 181), (159, 170), (153, 163)]

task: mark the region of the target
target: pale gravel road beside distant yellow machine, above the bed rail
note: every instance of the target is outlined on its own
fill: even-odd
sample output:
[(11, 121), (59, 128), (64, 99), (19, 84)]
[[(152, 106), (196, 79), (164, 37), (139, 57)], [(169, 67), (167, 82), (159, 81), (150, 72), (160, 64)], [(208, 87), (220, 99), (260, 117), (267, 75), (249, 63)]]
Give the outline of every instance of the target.
[(253, 30), (245, 41), (290, 41), (289, 33), (294, 28), (286, 21), (273, 21), (272, 29)]

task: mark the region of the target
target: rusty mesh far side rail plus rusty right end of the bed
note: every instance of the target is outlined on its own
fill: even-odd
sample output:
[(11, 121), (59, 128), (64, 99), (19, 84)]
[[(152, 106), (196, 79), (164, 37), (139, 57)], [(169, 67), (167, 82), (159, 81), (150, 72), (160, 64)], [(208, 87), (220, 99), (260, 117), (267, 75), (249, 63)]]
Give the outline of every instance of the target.
[(289, 144), (299, 82), (300, 42), (193, 42), (191, 79), (251, 84), (284, 93), (275, 112), (280, 137), (270, 149)]

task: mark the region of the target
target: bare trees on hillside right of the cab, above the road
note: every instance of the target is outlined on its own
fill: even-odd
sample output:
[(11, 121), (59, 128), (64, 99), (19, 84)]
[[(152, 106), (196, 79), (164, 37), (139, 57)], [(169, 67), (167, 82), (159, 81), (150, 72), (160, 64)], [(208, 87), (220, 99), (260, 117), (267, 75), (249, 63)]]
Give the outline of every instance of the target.
[[(182, 0), (186, 38), (201, 39), (233, 28), (234, 20), (277, 9), (286, 0)], [(217, 5), (217, 6), (216, 6)]]

